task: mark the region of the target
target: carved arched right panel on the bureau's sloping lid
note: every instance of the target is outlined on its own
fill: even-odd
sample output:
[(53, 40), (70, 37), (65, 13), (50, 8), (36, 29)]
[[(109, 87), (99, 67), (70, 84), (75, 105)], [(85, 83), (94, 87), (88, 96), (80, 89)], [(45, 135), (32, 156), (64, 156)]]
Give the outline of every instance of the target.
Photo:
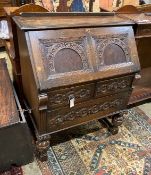
[[(109, 64), (118, 64), (122, 62), (129, 62), (130, 61), (130, 54), (129, 54), (129, 49), (128, 49), (128, 34), (114, 34), (114, 35), (103, 35), (103, 36), (93, 36), (95, 43), (96, 43), (96, 51), (98, 55), (98, 67), (104, 66), (104, 65), (109, 65)], [(106, 52), (106, 48), (107, 49)], [(113, 47), (113, 51), (117, 53), (114, 53), (113, 55), (111, 47)], [(115, 49), (116, 48), (116, 49)], [(107, 53), (106, 58), (104, 53)], [(124, 55), (123, 55), (123, 53)], [(116, 57), (116, 55), (119, 57)], [(120, 57), (123, 57), (122, 59)], [(110, 59), (110, 62), (107, 61), (105, 62), (105, 59)], [(118, 62), (119, 59), (119, 62)], [(120, 60), (121, 59), (121, 60)]]

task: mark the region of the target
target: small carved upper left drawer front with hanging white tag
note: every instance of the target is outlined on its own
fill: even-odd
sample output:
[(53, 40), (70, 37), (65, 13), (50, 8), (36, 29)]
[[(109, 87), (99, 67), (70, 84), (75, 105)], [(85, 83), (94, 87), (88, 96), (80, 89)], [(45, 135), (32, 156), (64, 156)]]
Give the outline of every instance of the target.
[(94, 95), (94, 87), (94, 83), (91, 83), (48, 92), (48, 107), (56, 108), (65, 105), (70, 107), (71, 100), (74, 104), (88, 100)]

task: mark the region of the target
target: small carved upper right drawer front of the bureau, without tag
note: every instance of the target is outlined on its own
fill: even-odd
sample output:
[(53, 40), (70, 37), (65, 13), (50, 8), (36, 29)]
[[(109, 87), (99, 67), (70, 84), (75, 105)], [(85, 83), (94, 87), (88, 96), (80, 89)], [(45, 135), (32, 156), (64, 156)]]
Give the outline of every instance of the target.
[(96, 85), (95, 96), (101, 97), (131, 88), (134, 75), (99, 81)]

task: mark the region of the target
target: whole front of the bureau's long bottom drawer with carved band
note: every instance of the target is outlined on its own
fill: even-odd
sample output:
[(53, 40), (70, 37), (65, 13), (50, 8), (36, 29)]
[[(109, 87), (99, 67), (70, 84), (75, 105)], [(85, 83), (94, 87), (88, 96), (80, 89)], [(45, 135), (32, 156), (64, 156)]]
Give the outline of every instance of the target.
[(59, 108), (47, 113), (48, 131), (53, 132), (98, 119), (125, 109), (130, 91), (90, 100), (73, 108)]

